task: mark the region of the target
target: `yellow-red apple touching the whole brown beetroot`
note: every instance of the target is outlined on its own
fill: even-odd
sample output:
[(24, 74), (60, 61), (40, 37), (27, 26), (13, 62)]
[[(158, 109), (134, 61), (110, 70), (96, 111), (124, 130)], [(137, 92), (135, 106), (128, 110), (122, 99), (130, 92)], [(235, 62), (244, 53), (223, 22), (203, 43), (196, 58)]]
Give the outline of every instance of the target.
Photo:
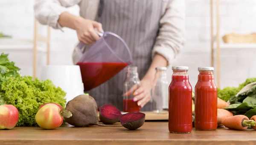
[(61, 110), (55, 103), (47, 103), (38, 110), (35, 121), (44, 129), (58, 128), (63, 123), (63, 117), (60, 115)]

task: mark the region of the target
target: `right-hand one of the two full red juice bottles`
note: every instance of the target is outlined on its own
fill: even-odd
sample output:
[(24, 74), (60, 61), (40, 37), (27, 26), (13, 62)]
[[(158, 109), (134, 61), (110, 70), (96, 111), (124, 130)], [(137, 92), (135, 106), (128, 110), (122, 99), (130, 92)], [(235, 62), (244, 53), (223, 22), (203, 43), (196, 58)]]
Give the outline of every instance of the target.
[(198, 67), (198, 82), (195, 85), (195, 130), (216, 130), (217, 86), (213, 67)]

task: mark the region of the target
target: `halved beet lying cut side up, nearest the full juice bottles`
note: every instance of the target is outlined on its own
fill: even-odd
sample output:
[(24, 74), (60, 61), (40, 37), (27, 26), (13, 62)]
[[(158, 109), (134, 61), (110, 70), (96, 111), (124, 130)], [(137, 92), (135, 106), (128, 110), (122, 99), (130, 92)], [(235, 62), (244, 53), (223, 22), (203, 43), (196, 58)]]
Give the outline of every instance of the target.
[(145, 122), (145, 114), (141, 112), (130, 112), (126, 114), (122, 114), (119, 117), (119, 120), (123, 127), (135, 130), (140, 128)]

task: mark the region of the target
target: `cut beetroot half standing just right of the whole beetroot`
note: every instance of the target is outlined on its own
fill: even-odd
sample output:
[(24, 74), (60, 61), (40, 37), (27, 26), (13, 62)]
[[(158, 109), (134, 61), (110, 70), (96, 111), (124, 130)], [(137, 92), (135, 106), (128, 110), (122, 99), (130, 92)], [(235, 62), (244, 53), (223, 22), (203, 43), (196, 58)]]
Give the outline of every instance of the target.
[(104, 124), (113, 124), (119, 121), (121, 112), (111, 104), (105, 104), (99, 107), (99, 119)]

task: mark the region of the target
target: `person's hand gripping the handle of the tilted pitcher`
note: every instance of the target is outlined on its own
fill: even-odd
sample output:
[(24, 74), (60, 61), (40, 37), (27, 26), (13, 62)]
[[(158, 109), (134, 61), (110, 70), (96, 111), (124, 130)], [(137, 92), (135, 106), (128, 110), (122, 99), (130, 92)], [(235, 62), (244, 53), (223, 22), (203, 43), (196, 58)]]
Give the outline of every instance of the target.
[(95, 28), (99, 32), (103, 32), (101, 23), (79, 17), (75, 27), (79, 41), (88, 45), (96, 42), (100, 37), (94, 30)]

